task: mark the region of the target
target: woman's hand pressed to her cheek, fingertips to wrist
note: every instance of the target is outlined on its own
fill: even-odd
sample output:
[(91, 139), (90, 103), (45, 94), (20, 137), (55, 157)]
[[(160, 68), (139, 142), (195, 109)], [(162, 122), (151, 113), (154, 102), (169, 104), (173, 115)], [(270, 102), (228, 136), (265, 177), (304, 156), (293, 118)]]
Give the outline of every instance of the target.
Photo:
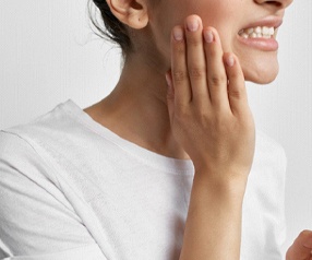
[(254, 122), (238, 58), (224, 54), (218, 33), (196, 15), (171, 36), (168, 109), (175, 138), (195, 170), (248, 176)]

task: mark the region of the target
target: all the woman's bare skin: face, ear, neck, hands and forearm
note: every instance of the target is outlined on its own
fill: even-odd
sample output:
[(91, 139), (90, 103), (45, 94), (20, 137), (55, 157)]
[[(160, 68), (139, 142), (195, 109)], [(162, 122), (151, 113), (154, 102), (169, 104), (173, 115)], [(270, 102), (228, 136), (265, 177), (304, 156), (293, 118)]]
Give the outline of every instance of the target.
[[(112, 93), (85, 113), (142, 147), (192, 159), (195, 177), (180, 260), (238, 260), (254, 151), (244, 80), (267, 83), (278, 71), (276, 50), (243, 45), (238, 32), (264, 17), (281, 19), (291, 0), (107, 2), (129, 26), (133, 51)], [(190, 22), (199, 28), (190, 29)], [(178, 40), (177, 31), (182, 32)], [(212, 42), (204, 37), (208, 32)], [(301, 233), (287, 260), (309, 260), (311, 237)]]

